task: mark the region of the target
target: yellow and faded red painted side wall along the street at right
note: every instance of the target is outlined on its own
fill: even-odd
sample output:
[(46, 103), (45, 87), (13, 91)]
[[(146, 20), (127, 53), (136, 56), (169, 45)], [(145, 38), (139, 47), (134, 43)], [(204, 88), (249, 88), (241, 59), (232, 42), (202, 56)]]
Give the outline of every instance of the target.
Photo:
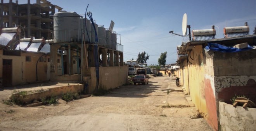
[(192, 102), (199, 112), (206, 116), (208, 124), (214, 130), (218, 130), (212, 58), (206, 56), (202, 46), (195, 46), (188, 59), (189, 92)]

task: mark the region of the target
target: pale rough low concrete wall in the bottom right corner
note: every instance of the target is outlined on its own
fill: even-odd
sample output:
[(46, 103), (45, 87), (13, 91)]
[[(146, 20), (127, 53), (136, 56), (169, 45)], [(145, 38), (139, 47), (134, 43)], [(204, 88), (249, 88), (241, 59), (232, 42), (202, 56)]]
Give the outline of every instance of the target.
[(221, 131), (255, 131), (256, 109), (219, 102)]

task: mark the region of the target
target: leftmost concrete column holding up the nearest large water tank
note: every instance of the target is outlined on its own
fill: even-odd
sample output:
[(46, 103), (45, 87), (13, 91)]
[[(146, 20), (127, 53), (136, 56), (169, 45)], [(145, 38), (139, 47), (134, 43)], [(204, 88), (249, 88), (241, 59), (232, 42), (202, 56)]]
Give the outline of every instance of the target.
[(57, 71), (57, 62), (58, 62), (58, 49), (61, 47), (61, 45), (50, 45), (50, 80), (55, 81), (55, 76), (58, 75)]

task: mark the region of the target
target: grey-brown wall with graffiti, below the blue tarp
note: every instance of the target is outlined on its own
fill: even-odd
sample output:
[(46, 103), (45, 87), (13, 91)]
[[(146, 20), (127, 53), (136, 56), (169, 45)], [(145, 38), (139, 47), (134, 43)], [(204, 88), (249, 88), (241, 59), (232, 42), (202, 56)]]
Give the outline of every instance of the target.
[(256, 81), (255, 56), (256, 50), (234, 53), (215, 52), (213, 58), (215, 96), (223, 88), (254, 84)]

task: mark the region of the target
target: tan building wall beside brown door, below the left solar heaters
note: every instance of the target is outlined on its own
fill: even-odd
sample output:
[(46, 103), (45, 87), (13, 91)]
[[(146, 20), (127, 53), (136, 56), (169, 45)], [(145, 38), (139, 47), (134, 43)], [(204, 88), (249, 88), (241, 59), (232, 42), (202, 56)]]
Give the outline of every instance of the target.
[[(3, 55), (3, 50), (0, 50), (0, 77), (2, 78), (3, 60), (12, 60), (12, 85), (25, 84), (36, 81), (36, 62), (43, 53), (36, 52), (21, 52), (21, 56)], [(26, 56), (31, 57), (31, 61), (26, 61)], [(37, 74), (38, 81), (47, 81), (47, 58), (43, 56), (43, 62), (38, 61)]]

